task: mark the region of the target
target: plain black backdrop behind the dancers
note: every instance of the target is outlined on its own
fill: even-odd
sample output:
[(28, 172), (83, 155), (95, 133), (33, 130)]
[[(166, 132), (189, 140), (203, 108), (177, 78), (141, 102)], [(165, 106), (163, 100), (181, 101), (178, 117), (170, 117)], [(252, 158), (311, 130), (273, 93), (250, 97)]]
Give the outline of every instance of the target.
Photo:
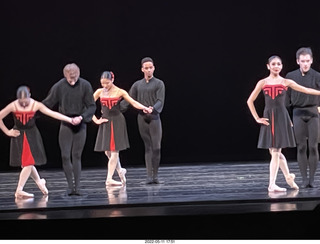
[[(317, 1), (3, 1), (1, 3), (0, 107), (27, 84), (42, 100), (75, 62), (81, 77), (97, 89), (104, 70), (129, 90), (142, 78), (140, 60), (151, 56), (155, 76), (166, 85), (162, 113), (162, 163), (269, 160), (256, 148), (259, 126), (246, 100), (267, 76), (269, 56), (283, 59), (282, 74), (297, 68), (295, 52), (309, 46), (319, 70)], [(256, 102), (262, 113), (263, 99)], [(136, 111), (125, 113), (131, 148), (124, 166), (143, 164)], [(12, 118), (5, 120), (12, 126)], [(48, 156), (61, 167), (59, 121), (37, 121)], [(88, 126), (84, 166), (106, 164), (93, 151), (97, 126)], [(10, 140), (0, 134), (2, 169), (8, 168)], [(295, 158), (295, 149), (284, 150)]]

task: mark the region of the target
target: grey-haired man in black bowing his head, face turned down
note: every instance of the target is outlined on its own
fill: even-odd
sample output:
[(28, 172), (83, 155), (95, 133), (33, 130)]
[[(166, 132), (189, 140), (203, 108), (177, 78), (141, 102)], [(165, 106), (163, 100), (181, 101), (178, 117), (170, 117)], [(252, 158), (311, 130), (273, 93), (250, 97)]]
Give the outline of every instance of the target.
[(68, 182), (68, 195), (80, 195), (81, 155), (86, 141), (87, 125), (96, 111), (91, 84), (80, 77), (79, 67), (72, 63), (63, 69), (64, 78), (54, 84), (42, 102), (49, 108), (59, 105), (59, 112), (75, 117), (75, 124), (61, 122), (59, 145), (62, 166)]

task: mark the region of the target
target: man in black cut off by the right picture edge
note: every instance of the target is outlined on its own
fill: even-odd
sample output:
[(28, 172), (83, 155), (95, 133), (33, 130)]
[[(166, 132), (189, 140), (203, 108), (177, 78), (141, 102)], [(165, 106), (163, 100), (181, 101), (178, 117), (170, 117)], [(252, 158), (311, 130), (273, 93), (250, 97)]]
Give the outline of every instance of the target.
[[(286, 78), (298, 84), (320, 90), (320, 73), (311, 68), (313, 55), (310, 48), (296, 53), (299, 69), (289, 72)], [(319, 97), (288, 90), (288, 101), (293, 108), (293, 128), (297, 143), (297, 161), (302, 176), (301, 188), (315, 187), (314, 176), (319, 161)], [(309, 178), (308, 178), (309, 167)]]

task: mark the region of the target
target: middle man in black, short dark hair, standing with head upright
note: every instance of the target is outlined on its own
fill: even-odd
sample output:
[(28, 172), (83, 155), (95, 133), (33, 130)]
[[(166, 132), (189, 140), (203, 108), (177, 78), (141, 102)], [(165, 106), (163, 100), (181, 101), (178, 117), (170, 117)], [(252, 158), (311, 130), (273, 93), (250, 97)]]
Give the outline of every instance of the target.
[[(160, 113), (164, 106), (165, 86), (162, 80), (153, 76), (155, 66), (149, 57), (141, 61), (144, 78), (136, 81), (130, 88), (129, 95), (145, 106), (152, 108), (152, 113), (139, 111), (138, 127), (145, 147), (145, 163), (147, 168), (147, 184), (159, 184), (158, 170), (161, 157), (162, 125)], [(122, 110), (128, 102), (121, 102)]]

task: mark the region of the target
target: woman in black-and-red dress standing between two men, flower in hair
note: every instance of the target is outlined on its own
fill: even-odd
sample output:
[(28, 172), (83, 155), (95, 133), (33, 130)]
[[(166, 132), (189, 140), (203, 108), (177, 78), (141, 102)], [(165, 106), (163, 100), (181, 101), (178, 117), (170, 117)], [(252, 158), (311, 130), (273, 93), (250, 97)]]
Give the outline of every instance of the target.
[[(132, 99), (125, 90), (115, 86), (113, 81), (114, 74), (112, 72), (105, 71), (102, 73), (100, 79), (102, 88), (97, 89), (93, 94), (95, 101), (100, 98), (102, 115), (100, 119), (97, 119), (94, 115), (92, 120), (99, 124), (94, 150), (105, 152), (109, 158), (106, 185), (120, 186), (126, 183), (125, 174), (127, 171), (121, 167), (119, 151), (129, 148), (127, 126), (120, 111), (120, 101), (123, 98), (145, 113), (151, 113), (152, 109)], [(115, 170), (117, 170), (121, 182), (112, 179)]]

